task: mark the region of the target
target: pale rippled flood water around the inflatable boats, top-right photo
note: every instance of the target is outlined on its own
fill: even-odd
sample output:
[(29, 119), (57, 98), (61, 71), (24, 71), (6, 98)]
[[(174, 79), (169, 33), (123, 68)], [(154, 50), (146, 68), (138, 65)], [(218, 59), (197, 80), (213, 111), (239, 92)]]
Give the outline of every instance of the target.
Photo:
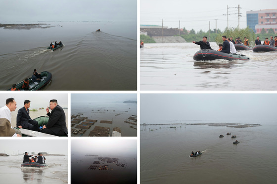
[[(218, 49), (211, 42), (214, 50)], [(238, 51), (250, 61), (199, 62), (193, 43), (148, 43), (140, 49), (141, 90), (277, 90), (277, 52)]]

